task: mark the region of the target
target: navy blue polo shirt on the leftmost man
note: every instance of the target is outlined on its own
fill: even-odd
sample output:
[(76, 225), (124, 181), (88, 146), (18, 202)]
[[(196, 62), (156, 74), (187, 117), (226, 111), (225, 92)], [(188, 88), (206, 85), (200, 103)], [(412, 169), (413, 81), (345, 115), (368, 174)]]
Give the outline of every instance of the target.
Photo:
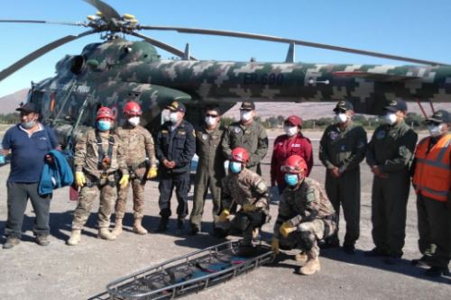
[(3, 149), (11, 150), (11, 171), (8, 182), (36, 183), (41, 177), (44, 157), (58, 145), (55, 132), (40, 124), (31, 135), (20, 124), (5, 132)]

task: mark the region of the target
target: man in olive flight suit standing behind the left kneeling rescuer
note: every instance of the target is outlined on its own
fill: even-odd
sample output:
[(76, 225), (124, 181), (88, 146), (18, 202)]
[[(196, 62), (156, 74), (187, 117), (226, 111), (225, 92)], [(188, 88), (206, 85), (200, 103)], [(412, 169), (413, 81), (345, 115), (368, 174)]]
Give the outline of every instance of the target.
[(261, 123), (253, 121), (254, 115), (253, 102), (244, 101), (240, 108), (240, 122), (232, 123), (226, 129), (221, 146), (226, 158), (236, 147), (243, 147), (251, 156), (246, 168), (262, 175), (260, 162), (268, 152), (268, 135)]

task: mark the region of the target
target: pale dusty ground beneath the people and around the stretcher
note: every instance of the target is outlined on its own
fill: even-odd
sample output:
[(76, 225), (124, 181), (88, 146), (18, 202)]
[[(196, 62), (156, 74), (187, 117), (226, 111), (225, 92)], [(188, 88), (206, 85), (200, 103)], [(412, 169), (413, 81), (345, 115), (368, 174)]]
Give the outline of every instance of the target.
[[(277, 135), (270, 132), (271, 141)], [(315, 166), (311, 177), (324, 182), (324, 171), (318, 161), (320, 132), (306, 132), (312, 139)], [(263, 161), (263, 174), (269, 180), (271, 151)], [(5, 180), (9, 166), (0, 168), (0, 232), (5, 228), (6, 191)], [(357, 253), (346, 255), (342, 250), (321, 252), (321, 271), (311, 277), (294, 274), (298, 265), (290, 255), (271, 266), (257, 268), (226, 284), (212, 287), (186, 299), (449, 299), (451, 277), (430, 279), (423, 270), (410, 266), (410, 259), (419, 258), (417, 247), (417, 217), (415, 196), (410, 190), (408, 222), (404, 257), (400, 264), (388, 266), (381, 259), (364, 257), (364, 250), (371, 250), (371, 186), (372, 176), (362, 164), (362, 221), (361, 238)], [(191, 190), (192, 191), (192, 190)], [(190, 199), (192, 194), (190, 194)], [(157, 182), (146, 186), (146, 208), (143, 220), (149, 230), (157, 227)], [(176, 232), (171, 220), (170, 231), (165, 234), (151, 232), (144, 236), (132, 230), (132, 205), (124, 219), (125, 231), (116, 241), (97, 239), (97, 214), (91, 214), (76, 247), (69, 247), (72, 212), (76, 203), (69, 201), (69, 189), (57, 190), (51, 204), (51, 244), (41, 247), (32, 240), (34, 214), (29, 205), (23, 223), (23, 242), (13, 250), (0, 250), (0, 299), (87, 299), (101, 295), (106, 285), (118, 277), (124, 277), (143, 268), (151, 267), (167, 259), (188, 254), (194, 250), (220, 242), (211, 237), (211, 202), (207, 201), (203, 231), (195, 237)], [(175, 210), (176, 201), (172, 200)], [(189, 202), (189, 207), (191, 203)], [(263, 238), (271, 238), (272, 226), (277, 215), (277, 205), (272, 205), (272, 222), (262, 229)], [(97, 212), (97, 208), (94, 210)], [(345, 228), (343, 217), (341, 228)], [(340, 236), (343, 238), (343, 231)]]

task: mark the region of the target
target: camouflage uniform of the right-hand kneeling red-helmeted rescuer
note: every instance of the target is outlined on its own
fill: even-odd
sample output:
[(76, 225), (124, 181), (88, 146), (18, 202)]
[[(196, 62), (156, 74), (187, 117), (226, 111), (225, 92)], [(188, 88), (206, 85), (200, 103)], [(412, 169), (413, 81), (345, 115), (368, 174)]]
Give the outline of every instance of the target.
[[(296, 227), (296, 231), (284, 238), (279, 228), (287, 221)], [(307, 252), (309, 259), (318, 259), (317, 241), (326, 239), (334, 232), (336, 213), (318, 181), (306, 177), (299, 187), (285, 188), (274, 224), (274, 238), (281, 241), (281, 249), (299, 248)]]

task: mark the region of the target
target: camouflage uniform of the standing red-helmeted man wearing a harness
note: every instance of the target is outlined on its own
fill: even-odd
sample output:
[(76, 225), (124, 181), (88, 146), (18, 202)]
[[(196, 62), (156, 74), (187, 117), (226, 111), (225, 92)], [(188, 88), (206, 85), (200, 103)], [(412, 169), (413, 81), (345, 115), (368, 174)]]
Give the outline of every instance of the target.
[[(111, 164), (107, 168), (99, 168), (99, 145), (96, 130), (90, 129), (77, 142), (75, 146), (74, 165), (76, 172), (83, 172), (87, 184), (81, 187), (78, 195), (78, 205), (74, 212), (72, 230), (81, 230), (87, 222), (92, 205), (100, 192), (100, 205), (98, 209), (98, 227), (108, 228), (110, 216), (116, 199), (116, 178), (118, 171), (126, 174), (124, 150), (121, 141), (114, 133), (98, 132), (105, 154), (112, 144)], [(114, 143), (113, 141), (114, 140)]]

